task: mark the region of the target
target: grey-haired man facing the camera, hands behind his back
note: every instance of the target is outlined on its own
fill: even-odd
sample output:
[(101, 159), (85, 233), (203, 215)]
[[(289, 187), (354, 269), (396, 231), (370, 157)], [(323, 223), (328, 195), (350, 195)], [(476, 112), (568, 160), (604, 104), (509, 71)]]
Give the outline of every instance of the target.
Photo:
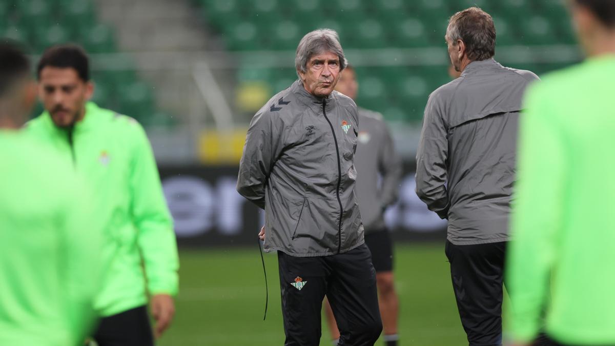
[(335, 31), (306, 34), (300, 79), (256, 113), (240, 161), (237, 191), (265, 210), (260, 235), (277, 250), (287, 346), (319, 344), (325, 294), (339, 345), (373, 345), (382, 331), (355, 197), (359, 114), (333, 91), (346, 65)]

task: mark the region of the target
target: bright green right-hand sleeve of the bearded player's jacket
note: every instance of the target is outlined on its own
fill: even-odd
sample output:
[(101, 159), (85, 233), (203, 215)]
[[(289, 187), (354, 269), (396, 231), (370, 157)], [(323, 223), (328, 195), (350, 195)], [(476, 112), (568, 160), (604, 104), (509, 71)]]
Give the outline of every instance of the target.
[(173, 221), (162, 193), (153, 151), (143, 128), (135, 124), (132, 172), (132, 217), (150, 294), (178, 291), (179, 260)]

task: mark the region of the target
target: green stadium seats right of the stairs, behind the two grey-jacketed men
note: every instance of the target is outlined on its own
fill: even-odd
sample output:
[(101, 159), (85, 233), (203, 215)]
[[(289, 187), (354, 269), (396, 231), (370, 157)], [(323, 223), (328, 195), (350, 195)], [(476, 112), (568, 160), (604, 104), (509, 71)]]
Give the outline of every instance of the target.
[[(442, 47), (445, 55), (448, 17), (470, 6), (480, 6), (493, 15), (498, 46), (574, 42), (560, 0), (192, 1), (212, 31), (220, 34), (226, 47), (234, 51), (294, 50), (303, 34), (328, 27), (338, 31), (344, 49)], [(537, 73), (551, 67), (531, 66)], [(381, 111), (391, 121), (418, 122), (429, 93), (450, 81), (446, 68), (359, 67), (357, 103)], [(237, 73), (239, 86), (260, 81), (272, 95), (296, 78), (292, 68), (257, 70), (242, 66)]]

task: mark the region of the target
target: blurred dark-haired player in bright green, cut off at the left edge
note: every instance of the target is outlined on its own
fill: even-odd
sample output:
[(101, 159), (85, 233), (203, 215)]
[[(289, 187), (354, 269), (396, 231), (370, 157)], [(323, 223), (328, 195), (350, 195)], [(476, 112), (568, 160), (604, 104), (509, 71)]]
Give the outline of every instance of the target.
[(30, 62), (0, 43), (0, 345), (82, 345), (95, 324), (102, 231), (66, 160), (24, 134)]

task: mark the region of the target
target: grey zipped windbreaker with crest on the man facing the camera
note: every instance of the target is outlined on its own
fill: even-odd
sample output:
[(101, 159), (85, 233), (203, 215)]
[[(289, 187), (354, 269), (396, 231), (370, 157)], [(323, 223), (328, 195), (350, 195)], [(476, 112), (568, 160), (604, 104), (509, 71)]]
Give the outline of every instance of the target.
[(359, 115), (349, 97), (309, 94), (301, 81), (252, 119), (237, 191), (265, 210), (266, 251), (332, 255), (363, 244), (355, 198)]

